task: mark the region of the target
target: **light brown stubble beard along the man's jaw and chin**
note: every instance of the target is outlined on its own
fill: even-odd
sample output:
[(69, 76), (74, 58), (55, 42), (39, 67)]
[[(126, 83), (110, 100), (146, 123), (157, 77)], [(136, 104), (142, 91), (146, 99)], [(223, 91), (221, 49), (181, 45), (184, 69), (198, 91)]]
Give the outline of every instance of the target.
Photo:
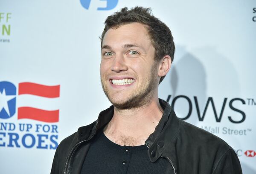
[(113, 100), (113, 97), (115, 96), (110, 96), (110, 92), (107, 86), (105, 86), (105, 84), (103, 83), (101, 78), (102, 89), (105, 92), (105, 95), (107, 96), (108, 100), (113, 104), (113, 106), (116, 109), (125, 110), (132, 108), (140, 108), (143, 106), (148, 106), (151, 103), (154, 97), (155, 88), (157, 88), (158, 85), (156, 64), (157, 63), (154, 63), (154, 65), (151, 67), (151, 74), (149, 78), (146, 78), (141, 83), (142, 85), (145, 85), (141, 86), (141, 88), (139, 88), (137, 91), (134, 91), (129, 97), (119, 102), (115, 102)]

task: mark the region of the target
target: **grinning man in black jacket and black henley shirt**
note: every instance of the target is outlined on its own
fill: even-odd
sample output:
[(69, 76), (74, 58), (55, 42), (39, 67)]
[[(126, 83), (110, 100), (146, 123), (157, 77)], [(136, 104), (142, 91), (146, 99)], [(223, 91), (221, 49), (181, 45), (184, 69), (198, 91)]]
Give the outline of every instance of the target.
[(51, 174), (242, 173), (227, 143), (179, 120), (158, 99), (175, 46), (150, 9), (109, 16), (101, 39), (101, 83), (113, 106), (60, 143)]

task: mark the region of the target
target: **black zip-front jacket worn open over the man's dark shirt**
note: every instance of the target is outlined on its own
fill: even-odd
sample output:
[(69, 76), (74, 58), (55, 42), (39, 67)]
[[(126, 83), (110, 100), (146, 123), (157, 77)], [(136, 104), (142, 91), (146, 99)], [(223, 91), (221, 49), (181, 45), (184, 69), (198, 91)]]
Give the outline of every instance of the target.
[[(241, 165), (233, 149), (223, 140), (184, 122), (164, 100), (163, 117), (148, 139), (151, 162), (165, 158), (170, 165), (166, 174), (241, 174)], [(92, 124), (80, 127), (56, 149), (51, 174), (80, 174), (90, 140), (113, 117), (113, 106), (102, 111)]]

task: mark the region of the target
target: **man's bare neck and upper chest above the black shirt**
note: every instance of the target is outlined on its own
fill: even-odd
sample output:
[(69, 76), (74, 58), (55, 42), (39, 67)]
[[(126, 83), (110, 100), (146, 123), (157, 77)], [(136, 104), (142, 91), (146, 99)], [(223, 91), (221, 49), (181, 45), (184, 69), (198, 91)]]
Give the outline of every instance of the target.
[(158, 97), (140, 108), (119, 110), (114, 107), (112, 120), (104, 134), (119, 145), (143, 145), (159, 123), (163, 114)]

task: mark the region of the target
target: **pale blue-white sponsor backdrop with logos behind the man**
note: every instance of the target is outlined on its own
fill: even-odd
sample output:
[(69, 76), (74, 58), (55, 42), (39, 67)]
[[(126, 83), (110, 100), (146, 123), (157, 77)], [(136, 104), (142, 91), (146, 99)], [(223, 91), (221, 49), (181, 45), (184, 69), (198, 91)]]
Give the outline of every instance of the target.
[(0, 0), (0, 173), (49, 173), (61, 140), (111, 105), (99, 36), (124, 6), (151, 7), (173, 33), (160, 98), (255, 174), (255, 0)]

